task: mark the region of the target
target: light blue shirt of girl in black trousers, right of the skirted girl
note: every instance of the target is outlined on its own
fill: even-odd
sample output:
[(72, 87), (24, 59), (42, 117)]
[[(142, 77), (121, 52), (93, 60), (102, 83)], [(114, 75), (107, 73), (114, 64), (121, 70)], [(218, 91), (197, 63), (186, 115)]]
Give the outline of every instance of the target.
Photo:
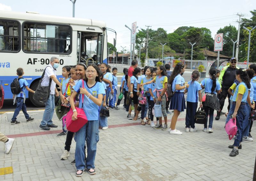
[(197, 81), (192, 81), (188, 82), (189, 87), (188, 87), (188, 93), (187, 93), (187, 101), (188, 102), (198, 102), (198, 91), (201, 90), (201, 85)]

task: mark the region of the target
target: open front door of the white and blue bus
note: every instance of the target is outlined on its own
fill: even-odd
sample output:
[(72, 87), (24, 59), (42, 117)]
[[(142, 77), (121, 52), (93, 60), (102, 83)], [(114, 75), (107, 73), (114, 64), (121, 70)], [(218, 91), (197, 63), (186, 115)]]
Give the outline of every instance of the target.
[(102, 63), (103, 34), (91, 32), (77, 33), (77, 63), (87, 65)]

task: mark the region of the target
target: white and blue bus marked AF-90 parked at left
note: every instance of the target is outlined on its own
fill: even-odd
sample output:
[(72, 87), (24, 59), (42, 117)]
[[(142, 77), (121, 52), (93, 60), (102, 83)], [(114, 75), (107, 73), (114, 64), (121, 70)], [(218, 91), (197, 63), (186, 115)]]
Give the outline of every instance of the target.
[[(53, 56), (60, 60), (60, 81), (65, 65), (107, 63), (106, 29), (105, 22), (91, 19), (0, 11), (0, 98), (4, 95), (4, 99), (12, 99), (10, 84), (17, 78), (19, 67), (24, 70), (28, 87), (36, 90)], [(25, 90), (25, 94), (35, 106), (44, 106), (31, 92)]]

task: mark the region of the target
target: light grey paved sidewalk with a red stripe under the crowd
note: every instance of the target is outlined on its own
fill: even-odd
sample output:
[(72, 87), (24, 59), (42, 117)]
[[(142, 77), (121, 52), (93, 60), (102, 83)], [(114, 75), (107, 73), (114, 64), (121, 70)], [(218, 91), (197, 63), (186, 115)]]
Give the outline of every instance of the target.
[[(211, 134), (202, 131), (203, 125), (196, 125), (197, 132), (187, 133), (183, 112), (176, 124), (183, 134), (170, 135), (167, 130), (142, 126), (140, 120), (128, 120), (122, 107), (110, 110), (109, 129), (100, 130), (96, 175), (85, 172), (82, 177), (75, 176), (76, 167), (70, 164), (75, 154), (74, 139), (70, 156), (60, 160), (66, 137), (56, 137), (62, 131), (56, 115), (53, 120), (59, 127), (44, 131), (39, 129), (43, 111), (30, 112), (35, 121), (29, 123), (20, 113), (19, 125), (10, 125), (12, 113), (0, 114), (1, 132), (15, 138), (8, 155), (0, 144), (0, 168), (13, 167), (13, 174), (2, 175), (0, 180), (252, 180), (256, 140), (244, 141), (239, 155), (230, 157), (228, 145), (234, 139), (229, 140), (224, 130), (224, 115), (213, 121)], [(168, 115), (168, 126), (171, 118)], [(256, 139), (255, 124), (252, 136)]]

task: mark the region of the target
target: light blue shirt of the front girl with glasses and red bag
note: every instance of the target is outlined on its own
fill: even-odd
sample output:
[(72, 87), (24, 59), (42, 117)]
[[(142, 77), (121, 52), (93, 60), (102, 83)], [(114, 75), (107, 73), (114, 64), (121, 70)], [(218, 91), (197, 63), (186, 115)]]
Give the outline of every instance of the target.
[[(83, 87), (82, 81), (84, 80), (79, 80), (76, 85), (73, 87), (73, 89), (76, 92), (80, 92), (80, 87)], [(91, 94), (91, 96), (94, 96), (95, 98), (98, 98), (99, 94), (103, 94), (103, 96), (106, 94), (104, 90), (104, 86), (100, 82), (96, 82), (92, 87), (88, 87), (87, 82), (84, 81), (84, 88)], [(82, 98), (82, 96), (81, 96)], [(95, 104), (90, 98), (87, 98), (86, 95), (84, 95), (84, 112), (86, 114), (86, 117), (88, 121), (93, 121), (93, 120), (98, 120), (99, 119), (99, 109), (100, 106)], [(82, 101), (79, 102), (79, 107), (82, 107)], [(96, 111), (97, 110), (97, 111)]]

